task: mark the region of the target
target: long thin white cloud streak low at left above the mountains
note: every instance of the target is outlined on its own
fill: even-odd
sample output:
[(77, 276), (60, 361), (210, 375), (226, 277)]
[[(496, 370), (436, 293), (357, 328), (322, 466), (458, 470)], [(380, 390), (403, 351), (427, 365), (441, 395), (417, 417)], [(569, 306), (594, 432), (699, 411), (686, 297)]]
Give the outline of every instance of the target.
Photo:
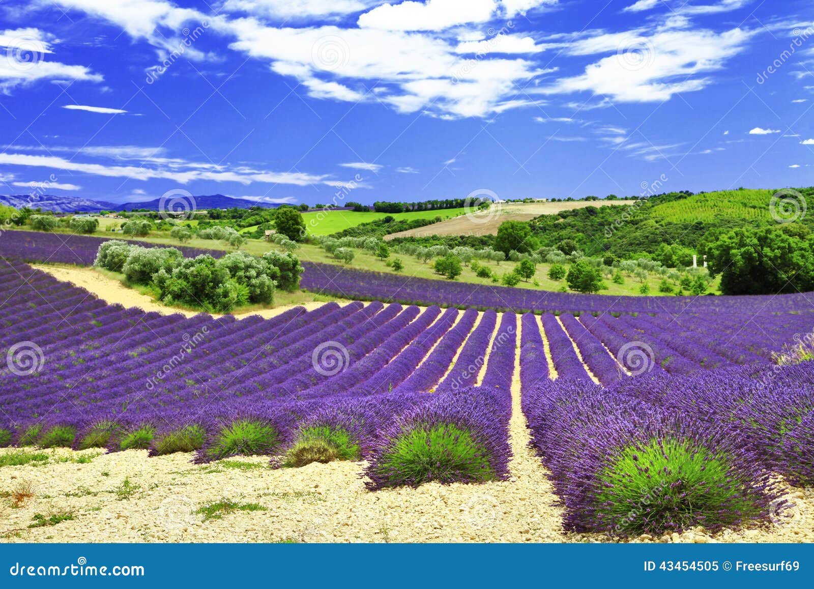
[(167, 169), (146, 168), (135, 165), (102, 165), (66, 160), (59, 156), (30, 156), (22, 153), (0, 153), (0, 164), (31, 166), (37, 168), (65, 169), (72, 172), (93, 174), (107, 178), (130, 178), (133, 180), (164, 179), (186, 184), (193, 180), (211, 180), (212, 182), (265, 182), (269, 184), (292, 184), (309, 186), (325, 184), (335, 186), (326, 174), (304, 174), (301, 172), (268, 172), (262, 170), (225, 170), (207, 169)]

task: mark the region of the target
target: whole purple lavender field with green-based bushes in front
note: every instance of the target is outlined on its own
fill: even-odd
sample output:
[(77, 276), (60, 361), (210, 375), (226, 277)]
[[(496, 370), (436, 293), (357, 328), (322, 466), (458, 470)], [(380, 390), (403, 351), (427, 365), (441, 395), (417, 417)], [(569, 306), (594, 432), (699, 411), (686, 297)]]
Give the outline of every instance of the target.
[[(619, 307), (549, 293), (570, 310), (553, 314), (485, 293), (459, 310), (455, 284), (406, 305), (379, 275), (309, 267), (304, 284), (347, 280), (373, 301), (186, 318), (21, 261), (62, 251), (54, 239), (2, 241), (2, 446), (147, 451), (147, 468), (170, 455), (344, 461), (375, 494), (513, 484), (529, 435), (562, 531), (622, 538), (765, 527), (794, 509), (789, 485), (814, 483), (814, 365), (796, 362), (814, 323), (805, 294)], [(92, 262), (98, 240), (72, 239), (77, 263)]]

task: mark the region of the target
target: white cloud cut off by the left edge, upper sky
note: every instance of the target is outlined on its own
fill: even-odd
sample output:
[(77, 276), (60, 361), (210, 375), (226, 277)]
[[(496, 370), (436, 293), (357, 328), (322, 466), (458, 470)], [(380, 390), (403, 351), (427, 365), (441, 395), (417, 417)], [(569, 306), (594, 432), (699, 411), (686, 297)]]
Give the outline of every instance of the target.
[(8, 94), (18, 86), (36, 81), (103, 81), (84, 65), (68, 65), (46, 59), (59, 40), (40, 29), (7, 29), (0, 31), (0, 92)]

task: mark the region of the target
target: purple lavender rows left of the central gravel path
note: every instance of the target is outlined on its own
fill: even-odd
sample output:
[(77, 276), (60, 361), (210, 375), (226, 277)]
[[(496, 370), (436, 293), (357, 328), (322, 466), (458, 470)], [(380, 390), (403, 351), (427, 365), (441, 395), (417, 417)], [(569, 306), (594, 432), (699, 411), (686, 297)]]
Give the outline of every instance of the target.
[[(365, 457), (374, 488), (505, 477), (508, 386), (475, 389), (472, 379), (423, 392), (440, 382), (435, 359), (462, 345), (475, 311), (354, 302), (267, 320), (186, 319), (105, 305), (19, 263), (0, 265), (0, 285), (9, 358), (0, 445), (195, 451), (201, 461), (265, 454), (296, 465)], [(498, 358), (490, 382), (505, 371)], [(427, 387), (400, 387), (420, 374)], [(444, 468), (427, 469), (440, 463), (410, 455), (405, 437), (435, 442)], [(444, 453), (450, 445), (461, 447)]]

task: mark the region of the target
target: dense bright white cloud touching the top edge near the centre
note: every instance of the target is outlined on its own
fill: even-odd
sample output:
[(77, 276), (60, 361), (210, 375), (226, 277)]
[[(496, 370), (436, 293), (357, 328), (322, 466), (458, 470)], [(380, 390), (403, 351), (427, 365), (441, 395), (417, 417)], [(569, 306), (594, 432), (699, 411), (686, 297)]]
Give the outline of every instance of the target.
[(383, 4), (361, 15), (364, 29), (441, 31), (458, 24), (484, 23), (497, 9), (495, 0), (427, 0)]

